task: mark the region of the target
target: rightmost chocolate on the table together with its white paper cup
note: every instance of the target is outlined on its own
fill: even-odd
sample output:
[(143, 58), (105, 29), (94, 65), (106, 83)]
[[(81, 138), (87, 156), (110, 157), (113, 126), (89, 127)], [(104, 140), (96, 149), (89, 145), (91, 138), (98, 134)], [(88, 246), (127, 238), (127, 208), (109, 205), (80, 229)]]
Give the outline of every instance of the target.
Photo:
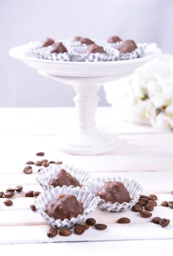
[(120, 176), (93, 179), (87, 183), (85, 190), (96, 195), (97, 207), (106, 212), (129, 209), (143, 192), (138, 181)]

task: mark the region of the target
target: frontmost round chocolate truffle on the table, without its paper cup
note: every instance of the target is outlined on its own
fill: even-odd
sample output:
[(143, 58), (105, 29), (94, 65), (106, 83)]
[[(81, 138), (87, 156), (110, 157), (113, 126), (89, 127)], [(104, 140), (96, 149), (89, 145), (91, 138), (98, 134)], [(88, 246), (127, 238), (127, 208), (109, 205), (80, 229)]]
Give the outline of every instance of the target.
[(45, 213), (55, 220), (62, 221), (67, 218), (71, 220), (72, 217), (77, 218), (79, 214), (83, 214), (83, 203), (77, 201), (74, 195), (60, 194), (54, 198), (51, 203), (45, 207)]

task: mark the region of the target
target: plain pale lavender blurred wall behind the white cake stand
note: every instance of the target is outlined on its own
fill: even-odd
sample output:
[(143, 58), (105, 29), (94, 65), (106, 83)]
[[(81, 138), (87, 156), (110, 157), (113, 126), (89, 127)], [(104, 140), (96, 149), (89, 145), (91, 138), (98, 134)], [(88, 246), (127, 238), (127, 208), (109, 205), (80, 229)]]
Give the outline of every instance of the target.
[[(29, 41), (80, 35), (156, 42), (173, 53), (173, 0), (0, 0), (0, 107), (74, 106), (73, 87), (9, 56)], [(108, 105), (103, 88), (100, 106)]]

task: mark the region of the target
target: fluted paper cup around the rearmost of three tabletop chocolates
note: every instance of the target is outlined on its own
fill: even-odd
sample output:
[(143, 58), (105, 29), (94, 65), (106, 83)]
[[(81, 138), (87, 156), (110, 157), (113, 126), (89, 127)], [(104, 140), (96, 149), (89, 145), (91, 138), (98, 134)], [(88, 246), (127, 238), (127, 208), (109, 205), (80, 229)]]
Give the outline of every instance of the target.
[[(70, 173), (73, 177), (76, 177), (80, 184), (85, 186), (89, 180), (92, 179), (90, 172), (85, 171), (82, 168), (67, 165), (67, 164), (57, 164), (53, 166), (48, 166), (40, 172), (38, 172), (36, 180), (43, 187), (44, 190), (52, 189), (54, 186), (49, 186), (48, 182), (51, 177), (60, 169), (65, 169), (66, 172)], [(63, 187), (68, 187), (64, 185)], [(74, 188), (73, 185), (69, 186)], [(81, 188), (78, 186), (78, 188)]]

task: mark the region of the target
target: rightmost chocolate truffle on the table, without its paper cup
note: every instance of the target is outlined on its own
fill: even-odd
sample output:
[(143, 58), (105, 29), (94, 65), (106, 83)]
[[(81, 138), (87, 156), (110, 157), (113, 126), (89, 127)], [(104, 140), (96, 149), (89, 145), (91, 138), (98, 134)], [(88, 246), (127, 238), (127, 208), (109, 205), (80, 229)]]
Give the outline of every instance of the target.
[(126, 189), (125, 185), (119, 181), (105, 182), (96, 195), (99, 195), (106, 203), (111, 201), (112, 204), (116, 202), (119, 204), (124, 202), (129, 203), (131, 200), (130, 193)]

